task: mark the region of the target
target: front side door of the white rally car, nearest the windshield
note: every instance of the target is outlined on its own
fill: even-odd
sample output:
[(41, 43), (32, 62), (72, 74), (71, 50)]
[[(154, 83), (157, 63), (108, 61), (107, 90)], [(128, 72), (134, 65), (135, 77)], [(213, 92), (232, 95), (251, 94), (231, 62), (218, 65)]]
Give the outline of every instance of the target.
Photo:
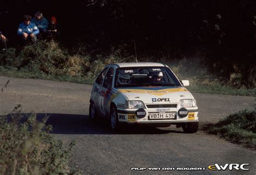
[(104, 78), (104, 82), (102, 87), (100, 87), (100, 95), (99, 95), (99, 102), (100, 102), (100, 113), (102, 115), (107, 116), (109, 113), (110, 108), (110, 96), (111, 96), (111, 89), (112, 89), (112, 81), (113, 81), (113, 74), (114, 68), (110, 67), (109, 71)]

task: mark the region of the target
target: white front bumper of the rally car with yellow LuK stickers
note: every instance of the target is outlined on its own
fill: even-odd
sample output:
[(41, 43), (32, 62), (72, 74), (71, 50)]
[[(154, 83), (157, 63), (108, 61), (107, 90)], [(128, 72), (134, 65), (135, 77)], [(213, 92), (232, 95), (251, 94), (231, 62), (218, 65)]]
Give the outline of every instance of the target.
[(198, 122), (198, 108), (186, 108), (188, 111), (188, 114), (186, 117), (180, 117), (178, 114), (178, 108), (168, 108), (163, 109), (164, 111), (161, 111), (161, 114), (165, 113), (176, 113), (175, 118), (171, 119), (154, 119), (150, 120), (149, 115), (154, 113), (159, 113), (157, 109), (144, 109), (146, 111), (146, 116), (143, 118), (139, 118), (136, 115), (136, 111), (138, 109), (123, 109), (118, 108), (118, 121), (122, 123), (186, 123), (186, 122)]

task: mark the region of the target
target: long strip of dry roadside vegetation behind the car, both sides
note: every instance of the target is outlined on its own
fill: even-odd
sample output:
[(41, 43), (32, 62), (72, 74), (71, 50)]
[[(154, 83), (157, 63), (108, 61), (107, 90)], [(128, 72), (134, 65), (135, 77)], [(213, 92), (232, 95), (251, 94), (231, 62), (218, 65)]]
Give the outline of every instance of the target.
[[(0, 52), (0, 75), (17, 78), (49, 79), (91, 84), (106, 64), (134, 62), (124, 48), (113, 48), (108, 54), (87, 51), (79, 45), (71, 51), (56, 41), (39, 41), (36, 45), (8, 48)], [(156, 61), (156, 57), (140, 57), (138, 61)], [(174, 59), (164, 56), (160, 61), (169, 65), (179, 79), (190, 80), (192, 92), (255, 96), (256, 88), (247, 89), (239, 78), (225, 79), (211, 73), (202, 56)]]

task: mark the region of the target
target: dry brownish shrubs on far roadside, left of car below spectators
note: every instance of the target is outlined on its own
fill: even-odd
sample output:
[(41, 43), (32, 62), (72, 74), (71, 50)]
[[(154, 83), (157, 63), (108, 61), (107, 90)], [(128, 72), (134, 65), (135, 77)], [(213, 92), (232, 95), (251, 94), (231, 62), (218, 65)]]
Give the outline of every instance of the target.
[[(81, 48), (84, 49), (84, 48)], [(98, 54), (91, 58), (90, 54), (69, 54), (55, 41), (39, 41), (35, 45), (27, 45), (19, 50), (8, 48), (0, 53), (0, 65), (16, 68), (19, 71), (29, 71), (36, 74), (51, 76), (72, 76), (94, 79), (106, 64), (129, 61), (122, 59), (119, 53), (103, 57)]]

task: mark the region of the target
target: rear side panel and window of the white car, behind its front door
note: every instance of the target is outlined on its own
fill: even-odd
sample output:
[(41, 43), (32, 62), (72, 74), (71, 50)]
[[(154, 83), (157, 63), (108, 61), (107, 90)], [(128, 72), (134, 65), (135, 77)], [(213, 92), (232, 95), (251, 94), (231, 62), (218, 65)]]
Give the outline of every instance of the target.
[(95, 107), (97, 110), (99, 110), (100, 108), (100, 101), (99, 101), (100, 89), (102, 87), (102, 84), (108, 69), (109, 67), (106, 67), (105, 69), (103, 69), (103, 71), (99, 74), (98, 78), (96, 79), (92, 87), (92, 94), (93, 94), (92, 96), (94, 97), (92, 100), (95, 103)]

